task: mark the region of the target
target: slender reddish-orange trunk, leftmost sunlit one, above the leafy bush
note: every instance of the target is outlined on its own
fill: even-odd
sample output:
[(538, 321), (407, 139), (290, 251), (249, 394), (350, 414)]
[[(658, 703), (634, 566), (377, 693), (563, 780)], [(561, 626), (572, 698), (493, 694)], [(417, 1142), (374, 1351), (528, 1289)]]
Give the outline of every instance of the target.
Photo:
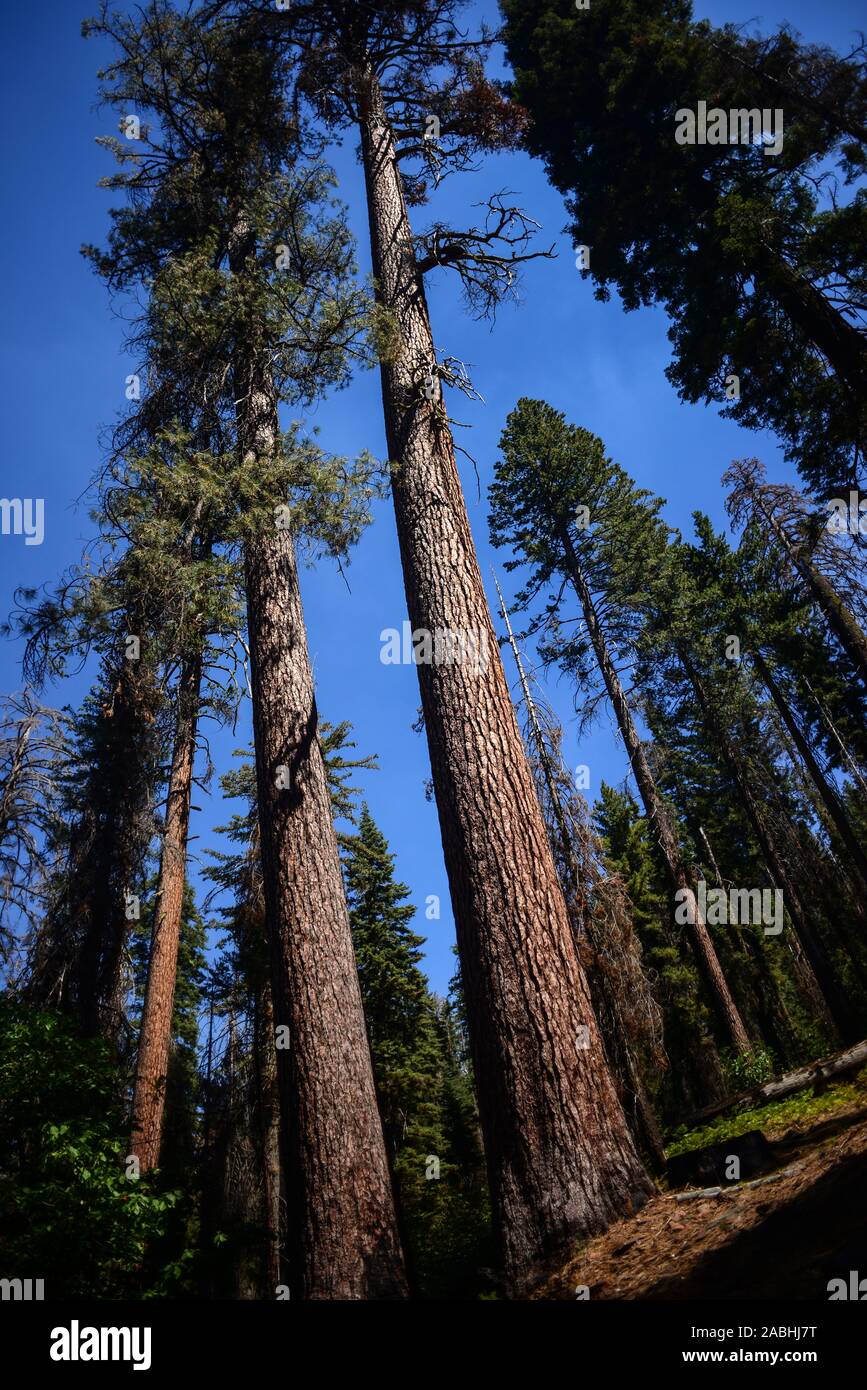
[(183, 663), (178, 682), (178, 724), (168, 780), (160, 885), (136, 1058), (131, 1152), (139, 1159), (143, 1173), (160, 1163), (200, 687), (201, 656), (197, 655)]

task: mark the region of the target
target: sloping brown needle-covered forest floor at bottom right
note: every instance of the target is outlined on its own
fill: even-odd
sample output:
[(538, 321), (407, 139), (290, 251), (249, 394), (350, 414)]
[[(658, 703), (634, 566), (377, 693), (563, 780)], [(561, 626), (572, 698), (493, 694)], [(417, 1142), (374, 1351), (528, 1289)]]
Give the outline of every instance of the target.
[[(774, 1168), (717, 1197), (660, 1191), (635, 1216), (584, 1243), (529, 1295), (575, 1298), (828, 1298), (828, 1280), (867, 1273), (867, 1072), (745, 1129), (774, 1143)], [(584, 1297), (588, 1297), (584, 1294)]]

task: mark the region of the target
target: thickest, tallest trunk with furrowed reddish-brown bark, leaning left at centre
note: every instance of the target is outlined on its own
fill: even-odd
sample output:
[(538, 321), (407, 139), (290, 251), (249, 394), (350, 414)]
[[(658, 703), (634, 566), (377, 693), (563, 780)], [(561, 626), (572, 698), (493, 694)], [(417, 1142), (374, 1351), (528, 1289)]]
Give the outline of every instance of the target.
[(439, 386), (393, 135), (361, 92), (374, 277), (400, 328), (382, 363), (395, 516), (414, 628), (470, 635), (479, 660), (418, 666), (471, 1049), (506, 1275), (522, 1287), (650, 1183), (604, 1065), (509, 696)]

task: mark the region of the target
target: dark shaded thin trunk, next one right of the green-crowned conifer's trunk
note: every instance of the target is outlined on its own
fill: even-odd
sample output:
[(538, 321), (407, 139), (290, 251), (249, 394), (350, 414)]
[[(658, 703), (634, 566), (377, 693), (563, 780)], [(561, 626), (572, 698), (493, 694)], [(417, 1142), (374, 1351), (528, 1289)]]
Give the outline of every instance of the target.
[(753, 790), (750, 787), (749, 777), (743, 770), (741, 758), (735, 752), (735, 745), (728, 733), (722, 728), (722, 724), (720, 723), (707, 696), (707, 691), (704, 689), (704, 682), (702, 681), (693, 663), (682, 649), (678, 651), (678, 656), (689, 677), (692, 688), (696, 692), (709, 733), (722, 753), (732, 780), (738, 788), (741, 802), (756, 833), (756, 840), (759, 841), (759, 848), (761, 849), (771, 880), (775, 887), (782, 890), (785, 910), (788, 912), (792, 926), (795, 927), (795, 933), (803, 947), (814, 977), (814, 997), (821, 1002), (827, 1019), (839, 1030), (843, 1041), (853, 1041), (853, 1038), (860, 1036), (857, 1017), (839, 986), (834, 966), (828, 959), (828, 954), (818, 934), (813, 929), (810, 917), (800, 899), (800, 894), (795, 888), (782, 855), (777, 849), (777, 842), (759, 809), (759, 802), (753, 795)]

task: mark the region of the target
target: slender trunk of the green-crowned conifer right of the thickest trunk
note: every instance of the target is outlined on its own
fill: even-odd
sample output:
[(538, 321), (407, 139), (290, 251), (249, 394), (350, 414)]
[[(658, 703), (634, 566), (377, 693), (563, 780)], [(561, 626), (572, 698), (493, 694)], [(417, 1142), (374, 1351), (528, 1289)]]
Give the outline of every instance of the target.
[(663, 805), (653, 773), (650, 771), (650, 764), (647, 763), (645, 749), (641, 738), (638, 737), (629, 703), (620, 682), (614, 662), (611, 660), (609, 644), (606, 642), (606, 637), (602, 631), (602, 624), (596, 613), (596, 605), (593, 603), (593, 595), (591, 594), (589, 585), (584, 577), (581, 562), (575, 553), (575, 548), (565, 527), (560, 530), (560, 541), (565, 553), (567, 571), (584, 612), (584, 620), (593, 645), (596, 662), (599, 663), (599, 670), (602, 671), (602, 678), (614, 709), (617, 726), (622, 735), (629, 766), (632, 767), (632, 776), (638, 784), (638, 791), (647, 816), (647, 823), (663, 856), (668, 888), (672, 895), (677, 892), (688, 895), (692, 908), (689, 915), (692, 917), (689, 926), (689, 940), (696, 954), (714, 1011), (735, 1051), (749, 1052), (750, 1040), (743, 1026), (743, 1019), (741, 1017), (738, 1005), (735, 1004), (731, 990), (728, 988), (728, 981), (722, 972), (722, 966), (720, 965), (720, 958), (717, 956), (704, 917), (702, 916), (702, 909), (699, 908), (693, 885), (689, 881), (686, 866), (674, 837), (674, 831), (671, 830), (668, 813)]

